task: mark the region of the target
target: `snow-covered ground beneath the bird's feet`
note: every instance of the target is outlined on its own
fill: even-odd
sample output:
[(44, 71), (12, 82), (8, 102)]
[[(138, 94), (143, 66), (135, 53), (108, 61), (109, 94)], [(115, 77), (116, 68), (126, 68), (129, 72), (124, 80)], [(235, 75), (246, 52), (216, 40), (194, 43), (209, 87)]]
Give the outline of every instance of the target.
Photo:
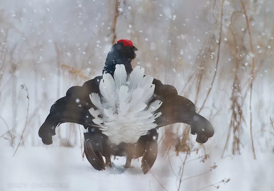
[[(179, 181), (177, 175), (185, 154), (180, 157), (164, 159), (159, 153), (153, 168), (142, 174), (141, 162), (132, 161), (133, 168), (124, 169), (125, 158), (113, 160), (113, 168), (105, 171), (93, 169), (90, 163), (82, 160), (80, 148), (61, 147), (29, 147), (19, 148), (12, 157), (11, 148), (1, 148), (0, 190), (177, 190)], [(226, 184), (219, 183), (219, 190), (231, 191), (271, 191), (274, 189), (274, 155), (270, 153), (257, 154), (257, 160), (252, 159), (250, 151), (242, 150), (242, 155), (220, 159), (221, 150), (210, 153), (206, 162), (196, 159), (199, 155), (191, 153), (186, 160), (183, 180), (180, 190), (198, 190), (230, 179)], [(171, 156), (170, 153), (169, 156)], [(181, 159), (182, 160), (181, 160)], [(196, 159), (196, 160), (193, 160)], [(189, 162), (188, 162), (189, 161)], [(209, 171), (210, 166), (217, 165)], [(208, 172), (209, 171), (209, 172)], [(193, 177), (202, 173), (204, 175)], [(160, 183), (162, 186), (160, 185)], [(210, 186), (205, 191), (216, 190)]]

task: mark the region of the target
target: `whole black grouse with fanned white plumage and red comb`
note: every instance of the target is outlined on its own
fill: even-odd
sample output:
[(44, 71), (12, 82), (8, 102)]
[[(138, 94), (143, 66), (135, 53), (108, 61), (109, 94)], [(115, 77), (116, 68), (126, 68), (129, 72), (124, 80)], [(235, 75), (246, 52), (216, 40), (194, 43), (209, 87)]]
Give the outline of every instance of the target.
[(190, 100), (179, 96), (173, 86), (144, 75), (144, 68), (132, 69), (135, 51), (131, 40), (118, 40), (107, 54), (102, 76), (69, 88), (51, 106), (39, 129), (45, 145), (52, 144), (61, 123), (81, 124), (85, 128), (84, 152), (95, 169), (111, 167), (111, 155), (126, 156), (125, 168), (132, 159), (142, 157), (146, 174), (157, 157), (160, 127), (189, 124), (198, 143), (213, 136), (213, 126), (195, 112)]

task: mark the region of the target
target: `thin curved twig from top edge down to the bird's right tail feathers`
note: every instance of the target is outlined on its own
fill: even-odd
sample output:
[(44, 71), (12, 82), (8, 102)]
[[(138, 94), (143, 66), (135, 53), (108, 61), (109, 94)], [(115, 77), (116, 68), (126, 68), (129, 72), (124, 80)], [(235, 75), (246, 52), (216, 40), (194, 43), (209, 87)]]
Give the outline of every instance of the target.
[(213, 83), (215, 81), (216, 74), (217, 74), (218, 63), (219, 63), (219, 58), (220, 58), (220, 46), (221, 46), (221, 39), (222, 39), (222, 30), (223, 30), (223, 1), (224, 0), (222, 0), (222, 5), (221, 5), (222, 6), (222, 9), (221, 9), (221, 22), (220, 22), (220, 33), (219, 33), (219, 40), (218, 40), (218, 52), (217, 52), (217, 60), (216, 60), (215, 73), (214, 73), (213, 79), (211, 81), (209, 90), (208, 90), (208, 92), (206, 94), (206, 98), (205, 98), (205, 100), (204, 100), (201, 108), (199, 109), (199, 111), (197, 113), (200, 113), (202, 111), (203, 107), (205, 106), (206, 100), (207, 100), (207, 98), (208, 98), (208, 96), (210, 94), (210, 91), (211, 91), (212, 87), (213, 87)]

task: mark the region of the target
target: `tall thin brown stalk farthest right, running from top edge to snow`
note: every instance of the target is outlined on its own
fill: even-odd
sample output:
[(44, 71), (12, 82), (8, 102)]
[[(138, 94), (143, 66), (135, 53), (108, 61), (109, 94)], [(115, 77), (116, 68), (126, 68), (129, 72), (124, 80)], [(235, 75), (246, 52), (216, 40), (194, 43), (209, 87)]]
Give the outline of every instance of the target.
[(252, 149), (253, 159), (256, 159), (255, 149), (254, 149), (254, 142), (253, 142), (253, 135), (252, 135), (252, 107), (251, 107), (255, 60), (254, 60), (254, 51), (253, 51), (253, 45), (252, 45), (251, 31), (250, 31), (250, 28), (249, 28), (248, 16), (247, 16), (245, 6), (244, 6), (244, 3), (243, 3), (242, 0), (241, 0), (241, 5), (244, 9), (244, 16), (245, 16), (245, 20), (246, 20), (246, 25), (247, 25), (247, 29), (248, 29), (248, 36), (249, 36), (249, 43), (250, 43), (250, 51), (251, 51), (251, 54), (252, 54), (251, 55), (251, 57), (252, 57), (252, 69), (251, 69), (251, 82), (250, 82), (249, 112), (250, 112), (251, 149)]

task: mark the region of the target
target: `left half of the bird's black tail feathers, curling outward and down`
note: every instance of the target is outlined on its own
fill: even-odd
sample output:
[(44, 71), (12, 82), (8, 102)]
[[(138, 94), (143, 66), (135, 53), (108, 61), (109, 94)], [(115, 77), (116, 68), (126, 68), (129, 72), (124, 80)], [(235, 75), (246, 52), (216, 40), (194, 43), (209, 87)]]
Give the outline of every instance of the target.
[(39, 137), (45, 145), (52, 144), (55, 128), (65, 122), (78, 123), (86, 127), (97, 126), (89, 113), (91, 107), (96, 108), (90, 101), (89, 94), (99, 93), (99, 83), (102, 76), (95, 77), (83, 84), (68, 89), (66, 96), (57, 100), (50, 109), (45, 122), (39, 129)]

